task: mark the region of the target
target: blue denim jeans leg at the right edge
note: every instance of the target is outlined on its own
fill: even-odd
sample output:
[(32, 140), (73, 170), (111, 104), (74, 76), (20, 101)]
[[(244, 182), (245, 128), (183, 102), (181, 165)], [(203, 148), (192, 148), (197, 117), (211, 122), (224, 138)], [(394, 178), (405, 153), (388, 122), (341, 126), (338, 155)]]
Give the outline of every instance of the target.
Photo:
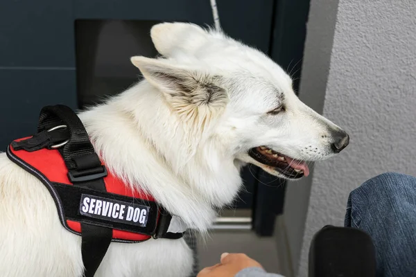
[(377, 277), (416, 277), (416, 178), (384, 173), (349, 195), (345, 226), (367, 232)]

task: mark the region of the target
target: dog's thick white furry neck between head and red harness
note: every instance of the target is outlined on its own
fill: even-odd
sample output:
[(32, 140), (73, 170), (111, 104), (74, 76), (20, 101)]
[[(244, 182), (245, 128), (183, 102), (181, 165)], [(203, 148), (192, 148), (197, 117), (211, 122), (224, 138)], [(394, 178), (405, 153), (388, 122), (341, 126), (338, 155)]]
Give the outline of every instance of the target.
[(239, 166), (226, 145), (206, 133), (189, 134), (146, 81), (80, 118), (115, 175), (153, 195), (191, 228), (206, 231), (214, 207), (230, 204), (239, 190)]

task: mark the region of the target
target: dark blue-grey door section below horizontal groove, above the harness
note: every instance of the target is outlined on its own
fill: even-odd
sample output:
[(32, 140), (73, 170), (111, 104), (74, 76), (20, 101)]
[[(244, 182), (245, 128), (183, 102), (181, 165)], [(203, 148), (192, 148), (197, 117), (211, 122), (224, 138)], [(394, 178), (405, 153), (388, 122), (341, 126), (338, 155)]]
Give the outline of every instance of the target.
[(40, 109), (64, 104), (76, 109), (74, 70), (0, 70), (0, 151), (36, 132)]

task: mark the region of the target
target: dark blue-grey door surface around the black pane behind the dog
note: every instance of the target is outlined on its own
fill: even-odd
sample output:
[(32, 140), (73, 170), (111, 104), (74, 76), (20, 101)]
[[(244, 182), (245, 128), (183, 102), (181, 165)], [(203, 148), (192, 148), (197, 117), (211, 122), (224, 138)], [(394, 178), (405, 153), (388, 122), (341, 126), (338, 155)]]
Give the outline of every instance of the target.
[[(218, 1), (226, 33), (268, 52), (273, 0)], [(0, 4), (0, 150), (35, 132), (44, 105), (77, 108), (74, 21), (135, 19), (212, 24), (208, 0), (21, 0)], [(139, 54), (139, 53), (138, 53)]]

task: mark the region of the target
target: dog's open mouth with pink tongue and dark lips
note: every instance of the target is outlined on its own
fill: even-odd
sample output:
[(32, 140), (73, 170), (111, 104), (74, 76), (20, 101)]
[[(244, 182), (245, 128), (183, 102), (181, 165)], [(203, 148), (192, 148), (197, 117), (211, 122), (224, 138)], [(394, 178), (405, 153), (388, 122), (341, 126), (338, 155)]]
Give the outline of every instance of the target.
[(306, 162), (275, 152), (266, 146), (252, 148), (248, 154), (259, 163), (271, 167), (272, 170), (279, 172), (288, 179), (299, 179), (309, 175)]

